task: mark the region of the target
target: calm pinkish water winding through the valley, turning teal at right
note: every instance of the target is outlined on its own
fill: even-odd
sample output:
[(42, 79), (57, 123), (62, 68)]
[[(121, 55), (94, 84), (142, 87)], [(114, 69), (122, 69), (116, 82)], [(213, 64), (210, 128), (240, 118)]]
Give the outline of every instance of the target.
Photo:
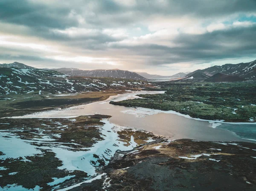
[[(120, 126), (152, 131), (154, 134), (175, 139), (195, 139), (210, 141), (250, 141), (256, 140), (256, 123), (222, 123), (217, 128), (207, 121), (189, 119), (168, 111), (132, 108), (111, 105), (109, 102), (134, 99), (136, 94), (157, 94), (163, 92), (139, 91), (112, 96), (108, 100), (87, 105), (79, 105), (64, 110), (55, 110), (27, 115), (24, 117), (75, 117), (89, 114), (111, 115), (110, 122)], [(247, 140), (250, 139), (250, 140)]]

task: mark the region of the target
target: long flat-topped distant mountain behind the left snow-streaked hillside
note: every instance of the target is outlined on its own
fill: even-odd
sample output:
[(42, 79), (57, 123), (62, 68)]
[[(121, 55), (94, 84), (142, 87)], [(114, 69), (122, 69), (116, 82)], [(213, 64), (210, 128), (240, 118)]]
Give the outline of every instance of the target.
[(133, 79), (133, 80), (147, 80), (145, 77), (141, 75), (126, 71), (126, 70), (79, 70), (77, 68), (57, 68), (52, 69), (55, 71), (60, 71), (64, 74), (71, 75), (71, 76), (84, 76), (84, 77), (113, 77), (113, 78), (123, 78), (123, 79)]

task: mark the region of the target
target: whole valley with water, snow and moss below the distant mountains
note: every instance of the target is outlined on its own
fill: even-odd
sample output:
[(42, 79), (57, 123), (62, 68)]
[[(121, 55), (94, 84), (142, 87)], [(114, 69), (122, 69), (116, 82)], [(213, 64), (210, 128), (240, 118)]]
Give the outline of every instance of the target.
[(0, 190), (254, 190), (253, 80), (0, 76)]

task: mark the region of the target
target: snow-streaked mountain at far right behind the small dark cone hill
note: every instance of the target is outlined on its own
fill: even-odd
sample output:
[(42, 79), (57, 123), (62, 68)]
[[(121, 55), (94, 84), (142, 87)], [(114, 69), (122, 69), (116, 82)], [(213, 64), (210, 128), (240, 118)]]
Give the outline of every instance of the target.
[(221, 73), (226, 75), (239, 76), (247, 80), (256, 80), (256, 60), (249, 63), (239, 63), (239, 64), (224, 64), (222, 66), (212, 66), (203, 70), (196, 70), (189, 75), (200, 71), (207, 76), (213, 76), (214, 74)]

